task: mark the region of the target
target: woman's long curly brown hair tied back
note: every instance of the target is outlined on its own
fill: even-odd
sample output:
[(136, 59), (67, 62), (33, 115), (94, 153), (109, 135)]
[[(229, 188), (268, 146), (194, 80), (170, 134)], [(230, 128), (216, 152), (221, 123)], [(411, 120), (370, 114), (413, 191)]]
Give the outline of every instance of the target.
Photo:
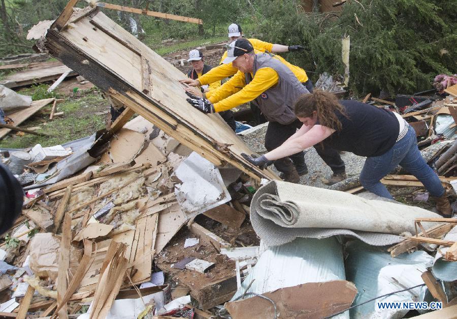
[(295, 115), (297, 117), (311, 117), (313, 112), (317, 112), (319, 124), (341, 130), (341, 122), (335, 114), (339, 111), (347, 117), (343, 105), (338, 102), (335, 94), (315, 89), (313, 93), (302, 94), (295, 102)]

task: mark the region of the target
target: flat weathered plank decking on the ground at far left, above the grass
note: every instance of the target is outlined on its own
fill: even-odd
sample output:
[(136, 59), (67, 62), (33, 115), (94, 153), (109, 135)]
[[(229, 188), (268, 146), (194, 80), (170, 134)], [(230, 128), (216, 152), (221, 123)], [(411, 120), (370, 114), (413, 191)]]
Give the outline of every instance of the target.
[(34, 83), (56, 80), (66, 72), (70, 72), (69, 76), (76, 75), (68, 66), (61, 63), (46, 67), (32, 67), (5, 77), (0, 84), (11, 89)]

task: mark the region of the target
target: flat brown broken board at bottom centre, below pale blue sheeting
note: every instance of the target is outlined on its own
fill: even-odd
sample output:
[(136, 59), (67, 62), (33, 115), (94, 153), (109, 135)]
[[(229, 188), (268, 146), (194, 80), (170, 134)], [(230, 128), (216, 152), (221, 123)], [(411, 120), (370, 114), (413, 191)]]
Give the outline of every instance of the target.
[[(325, 318), (350, 307), (357, 294), (352, 282), (308, 282), (263, 294), (274, 301), (280, 318)], [(249, 295), (246, 297), (250, 297)], [(266, 299), (253, 296), (225, 304), (233, 319), (273, 318), (275, 309)]]

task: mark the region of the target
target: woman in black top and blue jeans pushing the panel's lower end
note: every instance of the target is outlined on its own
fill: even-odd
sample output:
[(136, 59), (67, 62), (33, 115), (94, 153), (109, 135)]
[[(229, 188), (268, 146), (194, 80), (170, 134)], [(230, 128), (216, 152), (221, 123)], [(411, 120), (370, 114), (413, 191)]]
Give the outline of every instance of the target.
[(315, 90), (297, 99), (295, 115), (303, 125), (281, 146), (258, 158), (242, 156), (256, 166), (265, 166), (270, 161), (319, 144), (323, 148), (366, 156), (360, 173), (362, 186), (389, 199), (394, 198), (380, 180), (401, 165), (435, 198), (439, 214), (452, 216), (438, 175), (419, 152), (414, 128), (397, 113), (355, 100), (338, 100), (330, 92)]

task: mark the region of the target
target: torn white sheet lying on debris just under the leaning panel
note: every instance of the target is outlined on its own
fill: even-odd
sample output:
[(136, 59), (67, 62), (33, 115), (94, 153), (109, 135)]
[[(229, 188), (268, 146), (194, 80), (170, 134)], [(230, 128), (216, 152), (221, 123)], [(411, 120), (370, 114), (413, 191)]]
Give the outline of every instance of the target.
[(219, 170), (195, 152), (179, 165), (175, 174), (181, 182), (175, 185), (176, 199), (186, 214), (195, 216), (232, 199)]

